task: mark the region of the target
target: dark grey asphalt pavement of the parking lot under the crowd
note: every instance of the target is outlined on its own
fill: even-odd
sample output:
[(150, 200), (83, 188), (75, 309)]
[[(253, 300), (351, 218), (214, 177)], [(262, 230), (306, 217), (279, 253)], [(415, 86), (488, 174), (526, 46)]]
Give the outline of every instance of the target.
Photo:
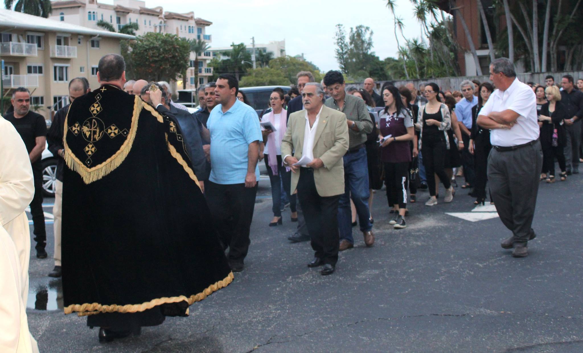
[[(353, 228), (354, 249), (323, 277), (306, 267), (310, 244), (286, 240), (297, 225), (289, 208), (283, 226), (268, 227), (271, 192), (261, 180), (245, 270), (233, 283), (187, 318), (109, 344), (84, 317), (62, 312), (61, 280), (46, 277), (54, 265), (47, 224), (49, 257), (31, 252), (30, 331), (41, 352), (582, 352), (583, 177), (540, 184), (526, 258), (501, 249), (510, 233), (489, 202), (475, 209), (456, 191), (454, 202), (434, 207), (417, 193), (401, 230), (388, 224), (377, 191), (374, 246)], [(52, 213), (52, 200), (44, 203)]]

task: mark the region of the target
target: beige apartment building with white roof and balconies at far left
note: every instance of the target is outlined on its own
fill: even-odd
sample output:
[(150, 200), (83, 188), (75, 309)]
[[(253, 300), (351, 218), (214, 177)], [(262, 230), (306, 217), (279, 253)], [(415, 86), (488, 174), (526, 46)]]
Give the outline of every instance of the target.
[(98, 88), (99, 59), (120, 54), (120, 40), (134, 38), (0, 9), (2, 96), (26, 87), (33, 109), (52, 120), (69, 103), (69, 81), (83, 76), (92, 89)]

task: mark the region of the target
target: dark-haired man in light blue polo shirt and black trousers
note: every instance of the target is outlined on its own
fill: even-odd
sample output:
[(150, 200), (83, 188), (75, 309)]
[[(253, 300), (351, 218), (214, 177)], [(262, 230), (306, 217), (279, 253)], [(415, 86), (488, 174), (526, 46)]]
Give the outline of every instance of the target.
[(234, 272), (243, 271), (259, 180), (259, 141), (262, 141), (255, 110), (237, 100), (235, 76), (220, 75), (216, 81), (218, 103), (206, 126), (210, 131), (212, 169), (205, 195), (215, 228)]

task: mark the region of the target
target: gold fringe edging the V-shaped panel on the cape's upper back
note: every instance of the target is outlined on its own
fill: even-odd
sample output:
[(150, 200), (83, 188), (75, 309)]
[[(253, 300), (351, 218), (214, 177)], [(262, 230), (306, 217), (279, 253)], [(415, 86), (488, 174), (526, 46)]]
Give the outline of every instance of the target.
[(77, 172), (83, 179), (85, 184), (93, 183), (93, 181), (99, 180), (106, 176), (107, 174), (113, 172), (117, 167), (124, 162), (125, 158), (128, 156), (129, 151), (132, 149), (132, 145), (134, 144), (134, 139), (136, 137), (136, 131), (138, 130), (138, 120), (139, 115), (142, 112), (142, 107), (144, 104), (142, 103), (142, 99), (139, 96), (135, 96), (134, 99), (134, 116), (132, 116), (132, 124), (129, 128), (128, 137), (125, 139), (124, 143), (121, 145), (120, 149), (114, 153), (113, 156), (108, 158), (105, 162), (101, 163), (100, 165), (94, 166), (92, 168), (88, 168), (85, 166), (75, 154), (71, 152), (69, 146), (67, 145), (67, 131), (68, 131), (68, 124), (67, 120), (69, 117), (69, 111), (71, 111), (71, 107), (69, 107), (69, 111), (67, 111), (67, 115), (65, 117), (65, 131), (63, 134), (63, 142), (65, 146), (65, 163), (66, 165), (71, 168), (74, 172)]

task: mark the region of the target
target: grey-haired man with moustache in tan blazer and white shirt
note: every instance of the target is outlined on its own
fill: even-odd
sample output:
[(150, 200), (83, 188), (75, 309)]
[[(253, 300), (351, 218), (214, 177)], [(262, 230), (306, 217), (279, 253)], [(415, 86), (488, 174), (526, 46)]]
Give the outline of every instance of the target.
[[(315, 251), (308, 267), (324, 265), (321, 274), (329, 275), (338, 261), (338, 200), (344, 193), (348, 125), (344, 113), (324, 106), (319, 83), (306, 83), (301, 96), (304, 110), (289, 117), (282, 156), (293, 172), (291, 190), (297, 190)], [(302, 157), (311, 162), (295, 165)]]

